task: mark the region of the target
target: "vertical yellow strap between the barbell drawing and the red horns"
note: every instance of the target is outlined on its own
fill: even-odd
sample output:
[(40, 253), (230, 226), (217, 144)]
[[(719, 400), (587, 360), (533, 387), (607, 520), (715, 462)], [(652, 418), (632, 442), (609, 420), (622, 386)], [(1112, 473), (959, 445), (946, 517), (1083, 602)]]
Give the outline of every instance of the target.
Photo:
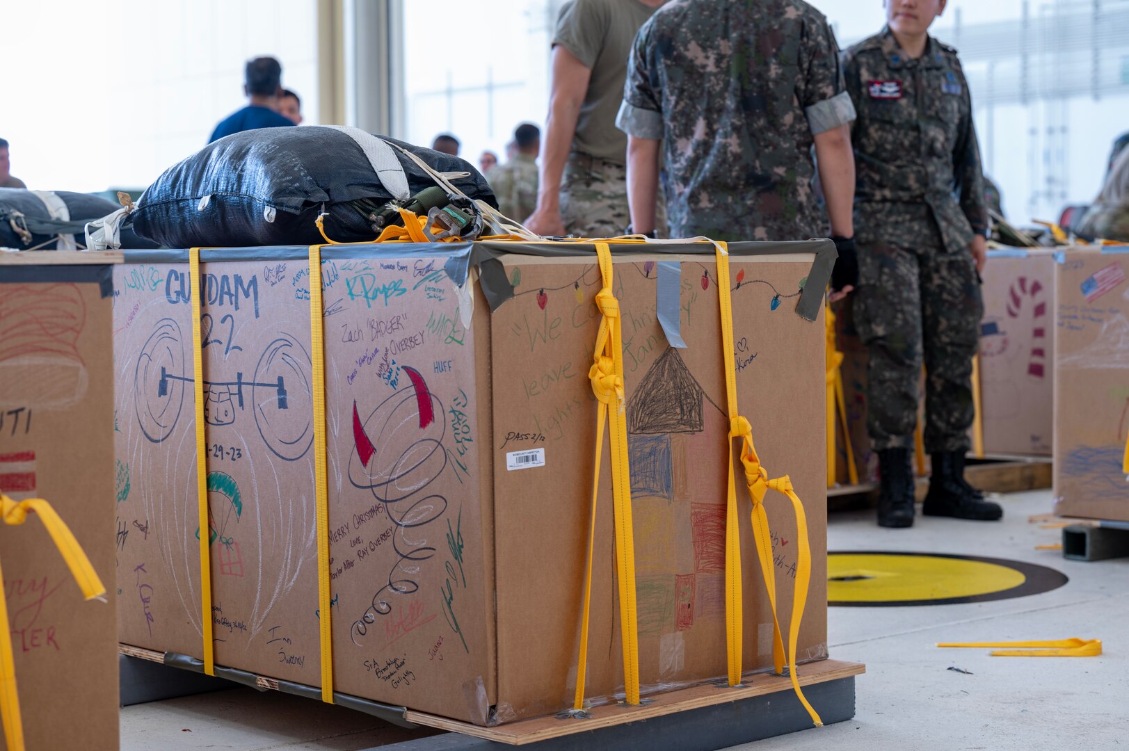
[(317, 514), (317, 618), (321, 626), (322, 701), (333, 704), (333, 618), (330, 612), (330, 494), (325, 460), (325, 320), (322, 247), (309, 246), (309, 352), (314, 402), (314, 504)]

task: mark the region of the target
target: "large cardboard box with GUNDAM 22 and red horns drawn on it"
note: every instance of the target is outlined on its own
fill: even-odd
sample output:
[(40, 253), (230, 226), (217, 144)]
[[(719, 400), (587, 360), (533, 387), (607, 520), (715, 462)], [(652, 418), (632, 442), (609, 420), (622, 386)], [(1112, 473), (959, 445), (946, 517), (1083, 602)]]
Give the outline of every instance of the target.
[[(789, 473), (807, 510), (800, 661), (826, 656), (825, 461), (811, 451), (825, 420), (822, 313), (813, 322), (795, 307), (807, 277), (828, 273), (828, 259), (813, 271), (813, 253), (829, 248), (732, 248), (742, 413), (771, 477)], [(614, 264), (645, 691), (726, 672), (717, 273), (710, 246), (674, 250), (695, 254)], [(199, 657), (184, 256), (129, 253), (120, 272), (117, 451), (135, 487), (122, 513), (148, 530), (131, 536), (120, 571), (145, 564), (152, 587), (148, 602), (122, 600), (121, 639)], [(322, 257), (335, 690), (479, 724), (570, 706), (595, 446), (592, 247), (341, 246)], [(203, 261), (216, 662), (318, 685), (306, 248)], [(680, 264), (685, 349), (664, 338), (656, 261)], [(820, 305), (821, 286), (803, 299)], [(603, 461), (587, 681), (597, 700), (623, 683), (606, 449)], [(738, 490), (745, 669), (765, 670), (771, 617)], [(795, 523), (782, 496), (767, 506), (787, 629)]]

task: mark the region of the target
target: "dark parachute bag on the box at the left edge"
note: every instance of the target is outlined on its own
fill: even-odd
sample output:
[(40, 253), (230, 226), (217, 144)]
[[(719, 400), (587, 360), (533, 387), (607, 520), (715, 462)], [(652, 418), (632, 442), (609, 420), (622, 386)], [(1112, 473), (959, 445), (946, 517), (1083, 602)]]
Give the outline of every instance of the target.
[[(0, 247), (19, 251), (86, 250), (85, 225), (119, 207), (89, 193), (0, 187)], [(130, 230), (122, 247), (156, 247)]]

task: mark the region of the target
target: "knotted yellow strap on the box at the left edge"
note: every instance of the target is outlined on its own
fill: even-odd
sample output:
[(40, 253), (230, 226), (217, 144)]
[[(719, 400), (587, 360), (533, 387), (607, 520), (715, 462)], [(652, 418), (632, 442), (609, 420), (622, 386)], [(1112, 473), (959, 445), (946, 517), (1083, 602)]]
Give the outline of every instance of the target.
[[(62, 554), (71, 575), (86, 600), (100, 597), (106, 593), (90, 559), (71, 533), (67, 523), (43, 498), (29, 498), (19, 503), (0, 494), (0, 514), (3, 523), (19, 526), (27, 521), (30, 512), (38, 514), (43, 526), (47, 527), (52, 542)], [(0, 578), (3, 571), (0, 571)], [(7, 599), (0, 599), (0, 719), (3, 721), (5, 743), (8, 751), (24, 751), (24, 723), (19, 714), (19, 692), (16, 690), (16, 663), (11, 652), (11, 627), (8, 622)]]

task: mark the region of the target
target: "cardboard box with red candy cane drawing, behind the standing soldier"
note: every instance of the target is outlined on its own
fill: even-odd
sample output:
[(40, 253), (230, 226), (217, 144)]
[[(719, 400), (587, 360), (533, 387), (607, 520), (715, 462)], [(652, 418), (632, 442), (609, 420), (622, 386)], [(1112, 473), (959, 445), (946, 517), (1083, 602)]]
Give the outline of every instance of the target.
[(984, 452), (1048, 456), (1054, 382), (1054, 251), (992, 251), (982, 276)]

